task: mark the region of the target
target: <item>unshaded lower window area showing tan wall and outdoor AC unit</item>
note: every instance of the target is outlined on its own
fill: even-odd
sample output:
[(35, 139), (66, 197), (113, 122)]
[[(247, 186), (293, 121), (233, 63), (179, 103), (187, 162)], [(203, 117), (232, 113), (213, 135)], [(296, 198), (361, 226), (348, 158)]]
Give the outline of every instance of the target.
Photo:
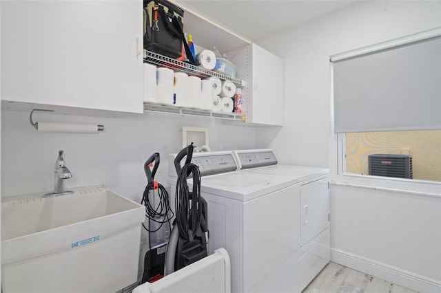
[[(441, 182), (441, 130), (344, 133), (342, 143), (344, 173)], [(398, 162), (377, 154), (399, 155)]]

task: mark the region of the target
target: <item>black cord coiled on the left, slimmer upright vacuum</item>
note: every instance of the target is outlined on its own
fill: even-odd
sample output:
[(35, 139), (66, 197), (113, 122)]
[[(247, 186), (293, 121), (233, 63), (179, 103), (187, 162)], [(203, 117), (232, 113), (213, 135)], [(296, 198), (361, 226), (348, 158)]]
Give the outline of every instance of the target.
[[(143, 199), (141, 200), (141, 204), (145, 206), (145, 217), (148, 217), (150, 220), (160, 223), (161, 225), (156, 230), (150, 230), (145, 227), (143, 223), (143, 227), (148, 232), (156, 232), (162, 228), (163, 224), (168, 223), (168, 226), (171, 230), (170, 219), (174, 217), (174, 213), (172, 208), (170, 208), (170, 202), (168, 199), (168, 193), (165, 190), (164, 186), (158, 184), (158, 196), (159, 196), (159, 204), (155, 208), (154, 202), (150, 203), (149, 195), (150, 191), (154, 192), (154, 182), (150, 182), (145, 186)], [(170, 216), (171, 214), (171, 216)]]

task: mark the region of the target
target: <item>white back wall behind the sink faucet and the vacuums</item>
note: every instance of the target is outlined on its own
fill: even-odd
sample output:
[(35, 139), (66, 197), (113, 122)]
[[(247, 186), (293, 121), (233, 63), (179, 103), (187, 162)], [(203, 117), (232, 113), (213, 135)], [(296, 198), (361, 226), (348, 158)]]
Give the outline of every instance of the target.
[(168, 155), (182, 149), (182, 127), (207, 127), (213, 151), (254, 148), (252, 127), (229, 126), (212, 118), (147, 112), (123, 118), (63, 116), (34, 112), (34, 121), (104, 124), (103, 133), (43, 133), (28, 112), (1, 111), (1, 196), (51, 191), (58, 150), (73, 177), (65, 187), (105, 184), (141, 202), (147, 179), (143, 164), (154, 152), (161, 162), (155, 179), (167, 185)]

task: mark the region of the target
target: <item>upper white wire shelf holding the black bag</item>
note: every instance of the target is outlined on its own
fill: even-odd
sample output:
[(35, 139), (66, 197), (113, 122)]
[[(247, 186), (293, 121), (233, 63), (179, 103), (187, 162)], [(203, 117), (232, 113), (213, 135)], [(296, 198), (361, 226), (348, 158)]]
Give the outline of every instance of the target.
[(198, 76), (200, 78), (209, 78), (210, 76), (216, 76), (222, 80), (229, 80), (232, 83), (236, 83), (236, 85), (240, 85), (243, 87), (247, 86), (247, 82), (245, 80), (240, 80), (238, 78), (232, 78), (231, 76), (227, 76), (225, 74), (220, 74), (218, 72), (214, 72), (211, 70), (207, 70), (202, 67), (198, 67), (196, 65), (192, 65), (186, 63), (184, 61), (179, 61), (174, 58), (170, 58), (167, 56), (163, 56), (156, 52), (144, 50), (144, 62), (156, 65), (158, 67), (167, 67), (179, 72), (185, 72), (190, 76)]

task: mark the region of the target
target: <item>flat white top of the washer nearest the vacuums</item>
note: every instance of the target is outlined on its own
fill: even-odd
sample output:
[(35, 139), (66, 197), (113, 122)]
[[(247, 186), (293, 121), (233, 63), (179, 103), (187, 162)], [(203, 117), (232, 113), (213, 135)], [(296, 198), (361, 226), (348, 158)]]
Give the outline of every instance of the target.
[(201, 193), (210, 193), (246, 202), (295, 183), (290, 177), (234, 171), (201, 177)]

